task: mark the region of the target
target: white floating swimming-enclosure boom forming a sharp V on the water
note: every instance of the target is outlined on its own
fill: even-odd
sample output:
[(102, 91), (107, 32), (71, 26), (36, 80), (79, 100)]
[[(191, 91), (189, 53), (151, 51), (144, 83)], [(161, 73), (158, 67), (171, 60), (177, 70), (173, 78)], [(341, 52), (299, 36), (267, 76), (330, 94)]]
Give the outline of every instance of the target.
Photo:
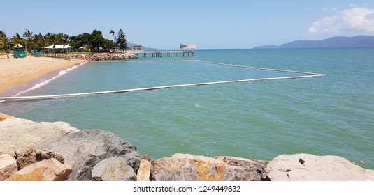
[(293, 73), (300, 73), (303, 76), (294, 76), (294, 77), (270, 77), (270, 78), (260, 78), (260, 79), (240, 79), (240, 80), (232, 80), (232, 81), (213, 81), (213, 82), (205, 82), (205, 83), (196, 83), (196, 84), (178, 84), (178, 85), (169, 85), (169, 86), (154, 86), (154, 87), (146, 87), (146, 88), (131, 88), (131, 89), (123, 89), (123, 90), (116, 90), (116, 91), (97, 91), (97, 92), (87, 92), (87, 93), (70, 93), (70, 94), (61, 94), (61, 95), (35, 95), (35, 96), (13, 96), (13, 97), (0, 97), (0, 102), (3, 100), (45, 100), (45, 99), (55, 99), (55, 98), (73, 98), (79, 96), (87, 96), (87, 95), (103, 95), (103, 94), (110, 94), (110, 93), (128, 93), (128, 92), (136, 92), (136, 91), (151, 91), (151, 90), (158, 90), (164, 88), (177, 88), (177, 87), (186, 87), (186, 86), (204, 86), (204, 85), (212, 85), (212, 84), (231, 84), (231, 83), (240, 83), (240, 82), (250, 82), (250, 81), (271, 81), (271, 80), (280, 80), (280, 79), (301, 79), (301, 78), (309, 78), (309, 77), (323, 77), (323, 74), (317, 74), (312, 72), (299, 72), (294, 70), (279, 70), (279, 69), (269, 69), (269, 68), (258, 68), (258, 67), (251, 67), (245, 65), (232, 65), (226, 63), (214, 63), (210, 61), (202, 61), (205, 63), (211, 63), (215, 65), (228, 65), (236, 68), (252, 68), (258, 70), (271, 70), (271, 71), (278, 71), (278, 72), (293, 72)]

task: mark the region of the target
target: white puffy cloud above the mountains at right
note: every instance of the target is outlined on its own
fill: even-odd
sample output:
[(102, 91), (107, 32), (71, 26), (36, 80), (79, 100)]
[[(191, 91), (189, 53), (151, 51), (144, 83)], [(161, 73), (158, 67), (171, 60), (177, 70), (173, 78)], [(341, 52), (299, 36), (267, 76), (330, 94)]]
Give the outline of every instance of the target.
[[(351, 5), (352, 6), (352, 5)], [(313, 22), (309, 33), (326, 33), (341, 31), (374, 32), (374, 9), (352, 7), (334, 16), (326, 16)]]

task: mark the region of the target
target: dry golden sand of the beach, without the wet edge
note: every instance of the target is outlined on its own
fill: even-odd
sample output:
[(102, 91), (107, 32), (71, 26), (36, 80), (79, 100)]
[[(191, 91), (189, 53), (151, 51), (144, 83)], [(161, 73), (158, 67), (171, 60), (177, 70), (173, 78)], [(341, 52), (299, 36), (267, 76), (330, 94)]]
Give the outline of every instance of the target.
[(15, 59), (9, 55), (7, 59), (6, 55), (2, 55), (0, 56), (0, 93), (9, 88), (20, 87), (50, 72), (64, 70), (80, 63), (82, 61), (34, 56)]

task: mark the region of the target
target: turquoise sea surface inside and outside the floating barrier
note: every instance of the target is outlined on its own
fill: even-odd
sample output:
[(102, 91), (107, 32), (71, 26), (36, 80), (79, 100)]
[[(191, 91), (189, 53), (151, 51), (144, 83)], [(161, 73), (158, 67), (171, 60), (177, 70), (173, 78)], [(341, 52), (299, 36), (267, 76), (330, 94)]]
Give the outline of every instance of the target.
[(310, 153), (374, 169), (374, 49), (196, 50), (194, 57), (89, 62), (22, 95), (300, 75), (205, 61), (326, 76), (3, 102), (0, 112), (108, 130), (153, 158)]

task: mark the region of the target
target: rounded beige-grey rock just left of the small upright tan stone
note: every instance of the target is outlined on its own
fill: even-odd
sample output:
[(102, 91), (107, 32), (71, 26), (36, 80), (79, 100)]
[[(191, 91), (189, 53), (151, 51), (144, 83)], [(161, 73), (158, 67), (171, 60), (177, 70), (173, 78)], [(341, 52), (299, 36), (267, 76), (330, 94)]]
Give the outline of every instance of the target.
[(122, 157), (103, 159), (94, 166), (92, 179), (96, 181), (135, 181), (134, 169)]

